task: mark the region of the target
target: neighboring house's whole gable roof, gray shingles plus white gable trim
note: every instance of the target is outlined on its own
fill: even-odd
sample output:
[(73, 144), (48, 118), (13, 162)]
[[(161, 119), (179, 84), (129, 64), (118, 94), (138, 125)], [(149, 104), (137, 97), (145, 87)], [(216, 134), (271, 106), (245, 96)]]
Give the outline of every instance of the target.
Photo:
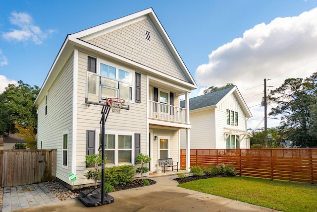
[[(216, 106), (222, 99), (224, 99), (227, 95), (234, 93), (237, 101), (240, 103), (241, 109), (244, 111), (247, 118), (252, 117), (252, 114), (242, 98), (237, 86), (230, 86), (218, 91), (214, 91), (211, 93), (207, 93), (201, 96), (196, 96), (189, 99), (189, 110), (196, 110), (209, 106)], [(180, 102), (180, 107), (185, 108), (185, 101)]]

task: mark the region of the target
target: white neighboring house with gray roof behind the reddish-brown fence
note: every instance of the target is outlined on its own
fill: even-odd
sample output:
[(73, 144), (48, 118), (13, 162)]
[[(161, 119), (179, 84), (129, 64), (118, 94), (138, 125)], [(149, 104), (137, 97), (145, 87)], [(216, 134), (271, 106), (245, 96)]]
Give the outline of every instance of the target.
[[(250, 148), (246, 121), (252, 114), (236, 86), (191, 98), (189, 108), (191, 149)], [(185, 139), (181, 131), (181, 148)]]

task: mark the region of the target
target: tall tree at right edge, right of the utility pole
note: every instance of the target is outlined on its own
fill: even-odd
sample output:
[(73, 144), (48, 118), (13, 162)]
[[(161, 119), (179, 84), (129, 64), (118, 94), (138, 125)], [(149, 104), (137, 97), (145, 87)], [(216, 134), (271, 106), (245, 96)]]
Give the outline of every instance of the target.
[(275, 103), (268, 115), (281, 115), (281, 124), (278, 129), (282, 136), (294, 141), (296, 146), (316, 147), (317, 139), (309, 134), (311, 129), (311, 113), (316, 104), (316, 76), (310, 78), (289, 78), (272, 90), (268, 101)]

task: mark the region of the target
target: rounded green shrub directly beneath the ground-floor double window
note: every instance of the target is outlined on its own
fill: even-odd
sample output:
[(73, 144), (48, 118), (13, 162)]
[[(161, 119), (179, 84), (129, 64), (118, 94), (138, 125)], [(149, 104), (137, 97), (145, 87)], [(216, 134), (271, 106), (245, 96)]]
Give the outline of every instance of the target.
[(122, 165), (105, 168), (105, 182), (110, 185), (132, 182), (134, 177), (133, 165)]

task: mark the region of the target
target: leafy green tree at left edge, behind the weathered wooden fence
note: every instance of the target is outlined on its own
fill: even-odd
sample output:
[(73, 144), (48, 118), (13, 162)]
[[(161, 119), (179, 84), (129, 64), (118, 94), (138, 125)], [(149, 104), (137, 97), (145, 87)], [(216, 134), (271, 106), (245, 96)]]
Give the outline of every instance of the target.
[(39, 91), (38, 86), (31, 87), (23, 81), (5, 88), (0, 94), (0, 135), (16, 133), (15, 123), (25, 128), (33, 126), (37, 133), (37, 106), (33, 103)]

